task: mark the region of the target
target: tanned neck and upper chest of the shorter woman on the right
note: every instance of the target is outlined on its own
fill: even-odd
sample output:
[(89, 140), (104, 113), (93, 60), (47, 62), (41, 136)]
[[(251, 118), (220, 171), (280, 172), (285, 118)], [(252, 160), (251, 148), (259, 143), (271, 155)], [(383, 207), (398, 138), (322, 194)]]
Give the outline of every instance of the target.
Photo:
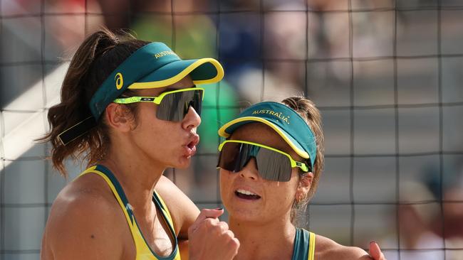
[(236, 260), (291, 259), (296, 228), (282, 218), (268, 223), (229, 218), (229, 227), (239, 240)]

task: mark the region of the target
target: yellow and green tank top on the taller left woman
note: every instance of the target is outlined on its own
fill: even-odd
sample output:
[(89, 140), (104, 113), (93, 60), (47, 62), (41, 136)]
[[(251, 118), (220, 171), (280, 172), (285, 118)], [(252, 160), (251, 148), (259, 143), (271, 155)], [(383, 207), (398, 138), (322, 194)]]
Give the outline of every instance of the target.
[(155, 205), (158, 210), (162, 213), (162, 219), (165, 220), (169, 226), (170, 234), (175, 240), (174, 250), (170, 256), (158, 256), (155, 251), (152, 251), (150, 246), (148, 246), (145, 237), (143, 237), (142, 232), (138, 228), (137, 220), (135, 220), (135, 215), (132, 212), (132, 206), (128, 202), (127, 197), (125, 197), (124, 190), (118, 180), (115, 178), (113, 173), (106, 168), (105, 166), (97, 165), (88, 168), (87, 170), (80, 173), (79, 177), (87, 173), (96, 173), (103, 177), (103, 179), (108, 183), (110, 189), (113, 191), (114, 197), (118, 200), (121, 209), (124, 212), (125, 218), (130, 227), (130, 232), (132, 233), (133, 241), (135, 242), (135, 249), (137, 251), (135, 260), (180, 260), (180, 249), (178, 248), (177, 236), (175, 235), (174, 223), (172, 222), (172, 217), (170, 212), (167, 209), (164, 201), (156, 192), (152, 195), (152, 201), (155, 202)]

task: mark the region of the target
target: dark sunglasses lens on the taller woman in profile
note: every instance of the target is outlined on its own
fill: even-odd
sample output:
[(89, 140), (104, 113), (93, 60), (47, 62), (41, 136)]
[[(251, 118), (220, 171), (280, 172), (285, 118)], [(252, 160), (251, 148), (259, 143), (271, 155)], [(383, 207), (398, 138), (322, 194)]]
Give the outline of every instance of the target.
[(167, 121), (182, 121), (189, 107), (201, 115), (202, 90), (189, 90), (165, 95), (157, 107), (158, 119)]

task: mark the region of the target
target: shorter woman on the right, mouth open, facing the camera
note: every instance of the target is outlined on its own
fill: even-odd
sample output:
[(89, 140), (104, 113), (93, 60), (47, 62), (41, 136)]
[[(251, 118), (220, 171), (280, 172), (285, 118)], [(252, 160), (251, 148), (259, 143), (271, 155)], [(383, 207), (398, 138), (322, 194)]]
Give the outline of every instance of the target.
[[(260, 102), (224, 124), (219, 135), (220, 191), (235, 259), (371, 259), (358, 247), (296, 227), (298, 209), (316, 192), (324, 163), (321, 114), (311, 100)], [(384, 259), (370, 244), (374, 259)]]

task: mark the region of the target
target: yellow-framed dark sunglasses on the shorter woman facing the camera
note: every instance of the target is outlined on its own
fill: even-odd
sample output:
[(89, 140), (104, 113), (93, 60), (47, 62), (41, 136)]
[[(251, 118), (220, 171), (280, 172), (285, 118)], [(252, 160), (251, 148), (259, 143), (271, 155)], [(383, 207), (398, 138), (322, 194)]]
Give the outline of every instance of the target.
[(219, 145), (217, 168), (239, 172), (251, 158), (255, 158), (261, 178), (274, 181), (291, 180), (292, 168), (311, 171), (306, 163), (295, 161), (288, 153), (249, 141), (227, 140)]

